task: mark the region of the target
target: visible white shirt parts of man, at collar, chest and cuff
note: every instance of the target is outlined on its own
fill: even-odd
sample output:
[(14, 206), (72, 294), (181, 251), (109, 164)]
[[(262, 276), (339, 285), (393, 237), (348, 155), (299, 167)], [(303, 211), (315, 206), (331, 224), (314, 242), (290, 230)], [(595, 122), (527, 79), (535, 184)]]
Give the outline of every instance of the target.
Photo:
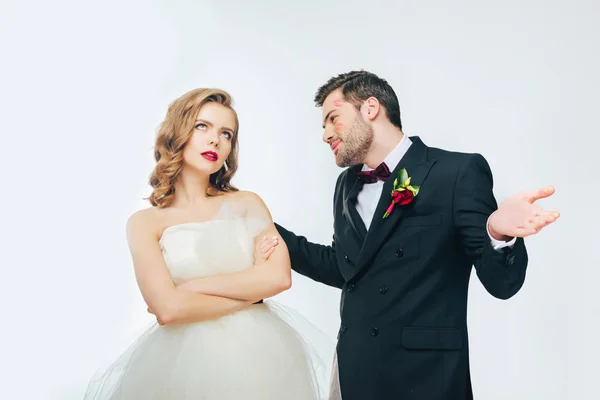
[[(402, 140), (400, 143), (396, 145), (394, 150), (383, 160), (390, 171), (392, 171), (396, 165), (400, 162), (404, 154), (406, 154), (408, 148), (412, 145), (412, 141), (406, 135), (402, 136)], [(369, 171), (372, 168), (369, 168), (367, 165), (363, 165), (363, 171)], [(378, 180), (375, 183), (369, 183), (363, 185), (362, 190), (358, 194), (358, 198), (356, 201), (356, 210), (360, 215), (361, 219), (365, 223), (365, 227), (367, 230), (369, 226), (371, 226), (371, 221), (373, 220), (373, 215), (375, 214), (375, 209), (377, 208), (377, 203), (379, 202), (379, 198), (381, 197), (381, 191), (383, 190), (383, 181)], [(486, 229), (487, 229), (486, 224)], [(503, 240), (496, 240), (490, 235), (490, 231), (488, 230), (488, 236), (492, 241), (492, 246), (494, 249), (499, 250), (506, 246), (513, 246), (517, 238), (512, 238), (509, 242)]]

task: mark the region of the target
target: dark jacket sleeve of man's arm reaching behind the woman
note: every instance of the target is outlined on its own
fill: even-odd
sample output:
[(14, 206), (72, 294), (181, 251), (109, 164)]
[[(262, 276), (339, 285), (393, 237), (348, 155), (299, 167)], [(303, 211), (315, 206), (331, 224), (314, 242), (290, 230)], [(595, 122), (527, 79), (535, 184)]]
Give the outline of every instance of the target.
[(288, 247), (294, 271), (329, 286), (341, 288), (344, 285), (336, 262), (335, 243), (331, 246), (311, 243), (279, 224), (275, 227)]

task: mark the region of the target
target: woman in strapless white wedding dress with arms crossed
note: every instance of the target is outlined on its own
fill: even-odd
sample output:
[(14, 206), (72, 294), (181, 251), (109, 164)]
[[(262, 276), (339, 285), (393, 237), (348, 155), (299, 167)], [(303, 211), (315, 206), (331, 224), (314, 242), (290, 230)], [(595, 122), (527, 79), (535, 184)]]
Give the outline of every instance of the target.
[(157, 324), (91, 380), (85, 399), (325, 398), (319, 357), (290, 314), (262, 301), (290, 288), (290, 259), (260, 197), (230, 183), (239, 127), (231, 102), (227, 92), (196, 89), (168, 109), (153, 207), (127, 221)]

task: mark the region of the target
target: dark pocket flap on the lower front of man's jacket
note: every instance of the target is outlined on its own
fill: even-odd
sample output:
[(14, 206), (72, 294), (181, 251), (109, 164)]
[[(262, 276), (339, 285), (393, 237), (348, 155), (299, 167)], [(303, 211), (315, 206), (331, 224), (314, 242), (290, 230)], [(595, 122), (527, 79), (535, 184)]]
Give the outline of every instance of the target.
[(457, 328), (402, 328), (402, 347), (420, 350), (459, 350), (463, 347), (462, 331)]

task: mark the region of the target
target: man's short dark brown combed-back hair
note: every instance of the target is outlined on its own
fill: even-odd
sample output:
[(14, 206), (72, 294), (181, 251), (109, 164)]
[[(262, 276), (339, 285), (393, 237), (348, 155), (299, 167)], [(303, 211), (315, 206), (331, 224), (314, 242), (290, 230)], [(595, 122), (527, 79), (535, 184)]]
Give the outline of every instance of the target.
[(315, 105), (323, 107), (325, 98), (331, 92), (342, 88), (344, 99), (359, 109), (369, 97), (375, 97), (385, 107), (390, 122), (402, 129), (400, 120), (400, 105), (394, 89), (385, 79), (381, 79), (372, 72), (360, 70), (351, 71), (330, 78), (315, 94)]

